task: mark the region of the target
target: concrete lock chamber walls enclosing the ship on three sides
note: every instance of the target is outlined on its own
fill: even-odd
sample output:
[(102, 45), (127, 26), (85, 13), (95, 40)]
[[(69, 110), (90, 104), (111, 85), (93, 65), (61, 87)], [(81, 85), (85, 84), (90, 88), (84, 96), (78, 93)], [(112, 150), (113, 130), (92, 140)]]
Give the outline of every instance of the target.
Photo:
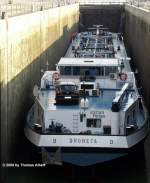
[[(69, 32), (77, 30), (78, 15), (78, 5), (69, 5), (0, 21), (3, 159), (13, 156), (12, 149), (23, 133), (22, 119), (33, 102), (32, 89), (39, 84), (40, 70), (47, 60), (54, 69), (68, 46)], [(79, 23), (82, 30), (92, 24), (104, 24), (114, 32), (124, 29), (126, 46), (139, 70), (150, 109), (150, 13), (128, 5), (81, 6)]]

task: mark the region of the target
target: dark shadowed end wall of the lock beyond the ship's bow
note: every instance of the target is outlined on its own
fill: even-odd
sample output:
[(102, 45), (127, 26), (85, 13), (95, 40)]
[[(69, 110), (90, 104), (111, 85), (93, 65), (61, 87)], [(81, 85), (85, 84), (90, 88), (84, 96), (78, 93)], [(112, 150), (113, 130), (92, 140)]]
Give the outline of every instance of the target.
[(92, 25), (101, 24), (109, 28), (112, 32), (120, 32), (122, 24), (123, 5), (97, 5), (80, 7), (80, 27), (79, 31), (87, 30)]

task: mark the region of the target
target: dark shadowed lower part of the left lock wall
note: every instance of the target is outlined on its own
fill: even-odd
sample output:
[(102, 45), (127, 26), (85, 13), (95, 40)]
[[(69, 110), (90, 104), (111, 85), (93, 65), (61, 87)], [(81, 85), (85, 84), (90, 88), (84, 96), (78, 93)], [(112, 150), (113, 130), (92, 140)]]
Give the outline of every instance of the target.
[(63, 28), (63, 36), (48, 47), (41, 55), (24, 68), (7, 85), (1, 83), (1, 160), (2, 162), (19, 161), (29, 150), (22, 150), (24, 123), (29, 108), (33, 104), (32, 95), (35, 84), (40, 86), (41, 69), (54, 70), (55, 64), (66, 52), (70, 42), (70, 32), (76, 31), (77, 24), (69, 30)]

